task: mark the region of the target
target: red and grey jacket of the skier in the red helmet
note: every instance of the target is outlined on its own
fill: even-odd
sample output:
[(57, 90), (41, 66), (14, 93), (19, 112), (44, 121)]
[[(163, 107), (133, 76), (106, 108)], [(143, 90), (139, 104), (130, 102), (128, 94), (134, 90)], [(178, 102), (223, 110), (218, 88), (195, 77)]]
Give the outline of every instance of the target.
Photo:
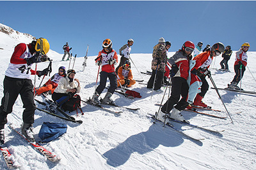
[(182, 50), (177, 51), (171, 58), (168, 59), (168, 62), (171, 65), (176, 64), (179, 68), (178, 72), (173, 77), (182, 77), (188, 80), (189, 59), (184, 55)]

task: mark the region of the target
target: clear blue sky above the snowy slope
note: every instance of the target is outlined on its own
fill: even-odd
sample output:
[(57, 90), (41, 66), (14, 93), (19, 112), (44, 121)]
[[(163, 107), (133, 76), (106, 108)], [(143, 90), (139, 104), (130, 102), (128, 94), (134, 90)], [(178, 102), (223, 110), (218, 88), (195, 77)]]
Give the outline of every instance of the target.
[(117, 52), (134, 40), (131, 53), (151, 53), (163, 36), (177, 51), (187, 40), (222, 42), (238, 50), (249, 42), (256, 51), (256, 1), (0, 1), (0, 22), (36, 38), (51, 49), (89, 56), (110, 38)]

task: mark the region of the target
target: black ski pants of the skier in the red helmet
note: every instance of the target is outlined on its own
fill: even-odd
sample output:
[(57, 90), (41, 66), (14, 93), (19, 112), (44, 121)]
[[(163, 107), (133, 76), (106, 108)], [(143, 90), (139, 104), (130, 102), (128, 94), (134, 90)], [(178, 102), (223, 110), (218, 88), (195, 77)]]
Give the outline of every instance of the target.
[[(170, 98), (165, 102), (161, 111), (168, 114), (172, 111), (175, 104), (175, 108), (179, 111), (186, 109), (188, 102), (186, 98), (188, 97), (188, 82), (182, 77), (173, 77), (172, 78), (172, 92)], [(182, 97), (180, 99), (180, 96)]]

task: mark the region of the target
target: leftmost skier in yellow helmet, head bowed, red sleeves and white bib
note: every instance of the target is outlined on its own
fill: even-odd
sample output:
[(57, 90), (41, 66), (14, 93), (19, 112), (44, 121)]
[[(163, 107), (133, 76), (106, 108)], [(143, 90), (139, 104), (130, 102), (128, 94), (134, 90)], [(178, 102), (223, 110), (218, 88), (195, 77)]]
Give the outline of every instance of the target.
[(40, 63), (49, 59), (46, 54), (50, 49), (49, 42), (45, 38), (26, 44), (19, 43), (12, 54), (10, 64), (4, 77), (4, 97), (0, 107), (0, 141), (4, 143), (4, 125), (7, 123), (7, 114), (12, 112), (13, 105), (20, 95), (23, 107), (21, 132), (29, 141), (35, 141), (31, 129), (34, 123), (36, 105), (34, 103), (33, 83), (31, 74), (38, 77), (47, 75), (48, 68), (43, 71), (31, 70), (33, 63)]

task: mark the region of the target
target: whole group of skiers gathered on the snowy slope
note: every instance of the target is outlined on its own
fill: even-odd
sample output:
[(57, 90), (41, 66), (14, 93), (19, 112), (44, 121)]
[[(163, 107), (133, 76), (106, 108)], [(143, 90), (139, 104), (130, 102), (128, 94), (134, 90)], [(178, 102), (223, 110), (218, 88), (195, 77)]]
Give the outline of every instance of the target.
[[(100, 102), (115, 104), (111, 99), (115, 89), (118, 86), (129, 87), (136, 83), (132, 77), (130, 62), (130, 52), (133, 43), (134, 40), (129, 39), (127, 44), (120, 48), (119, 54), (122, 57), (120, 64), (115, 69), (115, 65), (118, 63), (117, 53), (112, 48), (110, 39), (103, 41), (102, 50), (100, 50), (95, 59), (95, 65), (99, 66), (97, 81), (98, 75), (100, 74), (100, 83), (95, 89), (92, 98), (90, 98), (93, 104), (97, 105), (100, 104)], [(223, 54), (225, 53), (225, 55), (229, 55), (230, 52), (228, 52), (228, 50), (230, 50), (230, 47), (227, 47), (227, 52), (225, 52), (223, 43), (218, 42), (212, 45), (212, 47), (207, 47), (205, 52), (193, 58), (192, 53), (196, 53), (195, 45), (193, 42), (187, 41), (184, 42), (180, 50), (168, 59), (167, 55), (170, 47), (171, 43), (165, 42), (163, 37), (161, 37), (159, 43), (154, 46), (152, 54), (152, 76), (148, 81), (147, 88), (154, 88), (155, 91), (161, 92), (163, 80), (167, 81), (167, 77), (170, 75), (170, 80), (167, 82), (170, 84), (171, 81), (172, 92), (170, 98), (168, 98), (158, 112), (157, 119), (165, 121), (166, 117), (170, 117), (180, 121), (186, 121), (182, 114), (180, 114), (180, 111), (189, 107), (190, 104), (207, 107), (207, 105), (202, 102), (202, 99), (209, 89), (209, 84), (205, 79), (206, 75), (211, 75), (208, 68), (211, 65), (212, 58), (219, 56), (221, 52), (223, 52)], [(232, 83), (228, 84), (230, 88), (237, 88), (237, 83), (243, 77), (248, 58), (246, 52), (249, 47), (249, 43), (244, 43), (241, 49), (236, 53), (236, 75)], [(20, 43), (15, 47), (4, 77), (4, 97), (1, 100), (0, 107), (0, 144), (4, 143), (3, 129), (4, 125), (7, 123), (7, 114), (12, 112), (13, 105), (18, 95), (20, 95), (25, 108), (22, 116), (23, 123), (21, 132), (29, 141), (35, 141), (31, 128), (34, 123), (36, 109), (34, 96), (42, 93), (50, 93), (52, 94), (52, 100), (60, 106), (81, 91), (79, 80), (74, 78), (76, 71), (72, 69), (66, 71), (64, 66), (60, 66), (58, 73), (55, 73), (43, 87), (33, 89), (30, 75), (38, 75), (39, 77), (47, 75), (49, 68), (45, 68), (42, 71), (31, 70), (31, 65), (33, 63), (49, 60), (46, 55), (49, 48), (49, 42), (45, 38), (38, 38), (29, 44)], [(202, 42), (198, 43), (197, 49), (202, 49)], [(70, 49), (68, 43), (65, 45), (65, 50), (69, 59)], [(65, 58), (65, 54), (63, 59)], [(167, 65), (170, 65), (171, 68), (168, 68)], [(100, 67), (101, 72), (99, 72)], [(168, 75), (166, 75), (166, 72)], [(108, 92), (102, 101), (99, 101), (100, 94), (104, 88), (106, 88), (107, 79), (109, 79), (110, 82)], [(77, 82), (77, 85), (75, 82)], [(200, 90), (198, 91), (198, 89)]]

